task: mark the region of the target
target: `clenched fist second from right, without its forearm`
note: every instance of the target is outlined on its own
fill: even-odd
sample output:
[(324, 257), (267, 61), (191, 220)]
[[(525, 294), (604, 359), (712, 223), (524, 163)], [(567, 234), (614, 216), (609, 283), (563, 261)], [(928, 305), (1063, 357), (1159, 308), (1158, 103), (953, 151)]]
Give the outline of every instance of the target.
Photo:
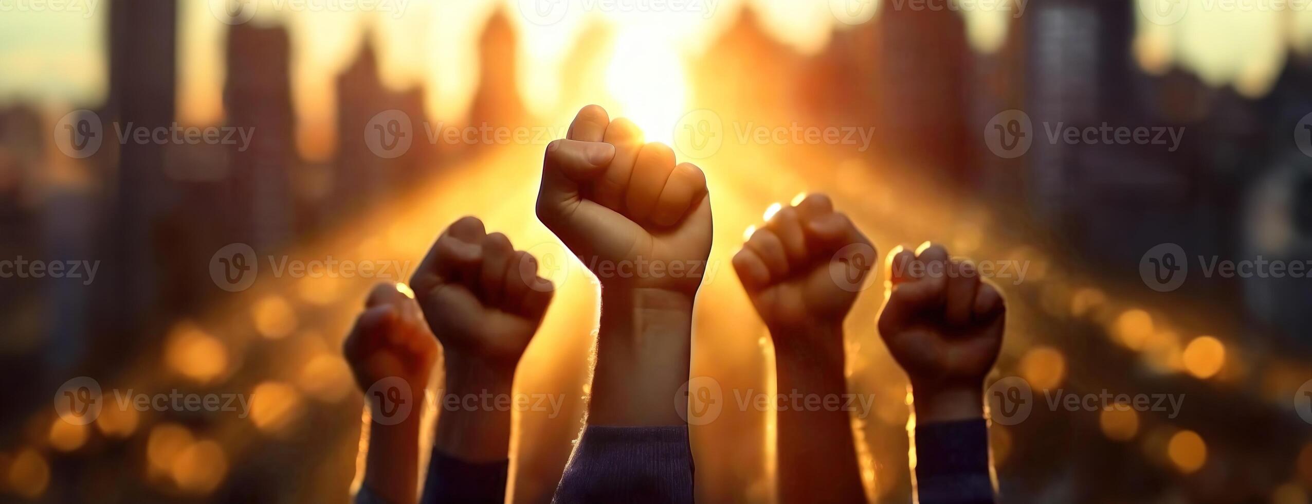
[(779, 210), (733, 256), (733, 269), (774, 335), (841, 328), (876, 262), (870, 240), (824, 194)]

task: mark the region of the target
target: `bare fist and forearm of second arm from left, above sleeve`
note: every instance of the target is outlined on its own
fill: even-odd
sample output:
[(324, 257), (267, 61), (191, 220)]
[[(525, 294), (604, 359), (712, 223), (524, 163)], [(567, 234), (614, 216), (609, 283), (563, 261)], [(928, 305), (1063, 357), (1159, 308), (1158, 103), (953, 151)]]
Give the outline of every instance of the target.
[[(474, 217), (433, 243), (411, 285), (442, 343), (446, 394), (509, 396), (514, 369), (555, 293), (537, 273), (537, 259), (516, 251), (505, 235), (488, 234)], [(510, 411), (443, 410), (434, 440), (438, 450), (466, 462), (504, 461)]]

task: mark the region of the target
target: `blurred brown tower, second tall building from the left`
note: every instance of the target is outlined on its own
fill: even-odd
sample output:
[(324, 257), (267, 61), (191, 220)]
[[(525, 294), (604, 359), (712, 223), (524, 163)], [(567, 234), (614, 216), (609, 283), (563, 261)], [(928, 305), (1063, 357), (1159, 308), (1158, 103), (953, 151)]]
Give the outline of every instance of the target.
[(290, 52), (283, 28), (241, 24), (228, 32), (227, 126), (253, 130), (249, 148), (243, 152), (234, 146), (228, 156), (235, 240), (257, 252), (282, 245), (294, 232)]

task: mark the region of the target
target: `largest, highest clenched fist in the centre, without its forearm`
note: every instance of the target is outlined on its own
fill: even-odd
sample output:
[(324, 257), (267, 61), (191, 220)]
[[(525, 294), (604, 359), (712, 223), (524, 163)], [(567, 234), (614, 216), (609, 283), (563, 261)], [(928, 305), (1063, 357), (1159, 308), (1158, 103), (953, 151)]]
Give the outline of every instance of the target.
[(711, 251), (706, 176), (589, 105), (547, 146), (538, 219), (604, 287), (694, 294)]

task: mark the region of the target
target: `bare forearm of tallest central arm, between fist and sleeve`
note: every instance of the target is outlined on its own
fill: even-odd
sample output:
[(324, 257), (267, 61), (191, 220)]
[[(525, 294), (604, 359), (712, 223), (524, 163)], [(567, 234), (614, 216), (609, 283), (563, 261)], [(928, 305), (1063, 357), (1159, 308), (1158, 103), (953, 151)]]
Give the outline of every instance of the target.
[(604, 289), (588, 423), (684, 425), (674, 395), (687, 382), (693, 299), (655, 289)]

